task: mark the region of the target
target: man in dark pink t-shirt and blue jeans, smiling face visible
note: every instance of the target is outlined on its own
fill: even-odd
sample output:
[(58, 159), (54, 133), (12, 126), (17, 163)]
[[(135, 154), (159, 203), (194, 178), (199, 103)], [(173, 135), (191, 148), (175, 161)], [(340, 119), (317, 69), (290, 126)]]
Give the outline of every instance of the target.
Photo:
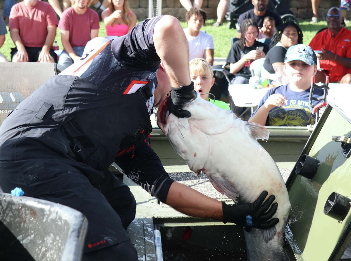
[(88, 8), (90, 3), (91, 0), (72, 0), (72, 7), (62, 13), (59, 28), (64, 50), (59, 64), (66, 68), (80, 59), (87, 42), (99, 34), (99, 15)]

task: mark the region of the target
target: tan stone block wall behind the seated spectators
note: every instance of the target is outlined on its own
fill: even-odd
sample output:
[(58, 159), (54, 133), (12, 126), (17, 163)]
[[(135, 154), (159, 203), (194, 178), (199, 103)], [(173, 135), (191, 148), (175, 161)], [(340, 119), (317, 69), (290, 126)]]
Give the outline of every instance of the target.
[[(4, 8), (4, 1), (0, 0), (0, 13)], [(133, 12), (137, 15), (139, 20), (145, 19), (148, 16), (148, 0), (128, 0)], [(192, 1), (192, 0), (191, 0)], [(287, 0), (280, 0), (283, 5)], [(16, 2), (20, 2), (16, 0)], [(61, 2), (61, 0), (60, 0)], [(101, 1), (102, 2), (102, 1)], [(209, 19), (217, 18), (217, 5), (219, 0), (203, 0), (202, 8), (207, 13)], [(332, 6), (339, 6), (339, 0), (321, 0), (318, 16), (324, 17), (328, 9)], [(155, 6), (154, 6), (155, 7)], [(301, 19), (310, 19), (312, 17), (311, 0), (290, 0), (290, 10), (296, 17)], [(162, 14), (171, 14), (179, 19), (185, 19), (186, 10), (180, 5), (179, 0), (163, 0)], [(350, 19), (351, 12), (347, 12), (346, 17)]]

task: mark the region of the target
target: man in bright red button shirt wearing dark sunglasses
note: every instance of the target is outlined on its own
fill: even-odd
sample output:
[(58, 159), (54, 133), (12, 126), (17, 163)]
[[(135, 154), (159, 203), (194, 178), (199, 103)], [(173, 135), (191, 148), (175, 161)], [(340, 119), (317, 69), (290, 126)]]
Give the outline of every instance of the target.
[(310, 46), (317, 53), (320, 68), (316, 82), (325, 82), (325, 76), (331, 82), (351, 83), (351, 31), (344, 28), (341, 11), (332, 7), (327, 13), (328, 28), (313, 37)]

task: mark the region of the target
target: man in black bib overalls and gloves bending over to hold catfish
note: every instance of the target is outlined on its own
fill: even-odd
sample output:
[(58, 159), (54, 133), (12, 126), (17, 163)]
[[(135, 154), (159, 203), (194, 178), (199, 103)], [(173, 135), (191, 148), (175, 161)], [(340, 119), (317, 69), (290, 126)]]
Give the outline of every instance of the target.
[(265, 191), (253, 203), (223, 208), (174, 182), (148, 144), (153, 106), (167, 98), (168, 111), (190, 117), (181, 109), (196, 95), (188, 61), (183, 29), (169, 15), (146, 19), (84, 54), (1, 125), (2, 190), (20, 187), (25, 196), (82, 212), (89, 222), (82, 260), (138, 259), (125, 231), (135, 217), (135, 199), (107, 170), (113, 161), (126, 175), (138, 174), (137, 183), (151, 195), (185, 214), (259, 228), (277, 224), (271, 219), (277, 210), (273, 195), (264, 202)]

